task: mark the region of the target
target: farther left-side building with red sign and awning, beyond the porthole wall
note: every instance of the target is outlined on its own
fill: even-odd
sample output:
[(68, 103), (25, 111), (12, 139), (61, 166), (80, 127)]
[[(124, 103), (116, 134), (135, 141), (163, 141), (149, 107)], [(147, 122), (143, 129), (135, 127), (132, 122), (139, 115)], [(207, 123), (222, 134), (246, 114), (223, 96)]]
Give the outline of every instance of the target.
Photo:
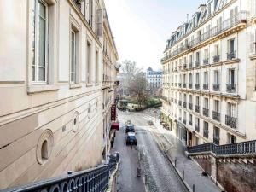
[[(102, 122), (103, 122), (103, 143), (102, 156), (107, 157), (114, 139), (114, 129), (112, 123), (116, 121), (116, 88), (119, 73), (117, 60), (119, 55), (115, 46), (113, 33), (108, 21), (106, 9), (104, 10), (103, 21), (103, 73), (102, 73)], [(113, 112), (114, 111), (114, 112)]]

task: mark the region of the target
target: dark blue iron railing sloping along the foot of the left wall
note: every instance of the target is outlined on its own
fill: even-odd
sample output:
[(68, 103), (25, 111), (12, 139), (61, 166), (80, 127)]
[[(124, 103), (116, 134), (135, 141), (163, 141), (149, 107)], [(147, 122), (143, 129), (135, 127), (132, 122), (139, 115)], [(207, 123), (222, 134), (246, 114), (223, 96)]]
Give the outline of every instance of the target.
[(110, 155), (108, 164), (81, 172), (68, 172), (61, 177), (50, 178), (37, 183), (26, 184), (25, 186), (13, 189), (5, 189), (4, 192), (57, 192), (57, 191), (97, 191), (103, 192), (108, 188), (111, 172), (119, 162), (119, 154)]

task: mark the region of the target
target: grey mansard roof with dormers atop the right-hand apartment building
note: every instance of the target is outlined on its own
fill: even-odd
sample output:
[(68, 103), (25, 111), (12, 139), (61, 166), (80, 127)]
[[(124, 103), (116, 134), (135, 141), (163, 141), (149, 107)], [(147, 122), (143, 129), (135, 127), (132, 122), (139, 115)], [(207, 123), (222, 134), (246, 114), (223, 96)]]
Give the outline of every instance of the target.
[(198, 11), (192, 15), (192, 18), (179, 26), (175, 32), (172, 32), (171, 38), (167, 40), (166, 49), (175, 45), (180, 39), (184, 38), (189, 32), (193, 32), (197, 26), (200, 26), (211, 15), (222, 9), (224, 5), (230, 3), (231, 0), (208, 0), (206, 4), (201, 4)]

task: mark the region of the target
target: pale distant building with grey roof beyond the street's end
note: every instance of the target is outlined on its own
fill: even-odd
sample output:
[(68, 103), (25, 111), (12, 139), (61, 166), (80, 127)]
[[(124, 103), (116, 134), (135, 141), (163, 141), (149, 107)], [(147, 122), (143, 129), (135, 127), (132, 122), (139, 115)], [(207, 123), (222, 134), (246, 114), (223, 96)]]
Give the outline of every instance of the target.
[(146, 79), (148, 80), (150, 90), (157, 90), (162, 87), (162, 72), (160, 70), (154, 71), (151, 67), (148, 67)]

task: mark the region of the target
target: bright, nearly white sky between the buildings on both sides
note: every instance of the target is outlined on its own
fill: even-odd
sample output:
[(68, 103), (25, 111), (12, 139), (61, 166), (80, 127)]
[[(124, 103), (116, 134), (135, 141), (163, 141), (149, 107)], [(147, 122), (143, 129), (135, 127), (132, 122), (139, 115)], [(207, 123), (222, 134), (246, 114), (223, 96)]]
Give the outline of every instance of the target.
[(207, 0), (105, 0), (119, 62), (135, 61), (146, 70), (160, 69), (160, 59), (178, 26)]

